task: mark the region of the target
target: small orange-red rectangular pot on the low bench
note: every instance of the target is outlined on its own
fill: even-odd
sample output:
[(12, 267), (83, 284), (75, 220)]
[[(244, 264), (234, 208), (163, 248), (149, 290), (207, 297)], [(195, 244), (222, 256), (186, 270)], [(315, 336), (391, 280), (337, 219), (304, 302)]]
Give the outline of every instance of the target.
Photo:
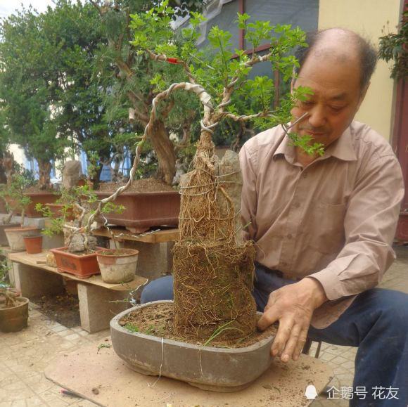
[[(102, 249), (102, 247), (98, 247), (98, 249)], [(74, 274), (78, 278), (88, 278), (101, 273), (96, 260), (96, 252), (81, 256), (68, 252), (68, 247), (58, 247), (49, 251), (54, 254), (58, 271), (62, 273)]]

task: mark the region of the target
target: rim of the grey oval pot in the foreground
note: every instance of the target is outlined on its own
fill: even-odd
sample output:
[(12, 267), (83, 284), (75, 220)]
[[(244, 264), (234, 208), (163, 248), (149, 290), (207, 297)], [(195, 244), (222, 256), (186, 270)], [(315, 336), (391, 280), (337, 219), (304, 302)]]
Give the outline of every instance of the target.
[[(146, 335), (144, 333), (141, 332), (129, 332), (129, 330), (127, 330), (126, 328), (122, 327), (122, 325), (119, 325), (119, 321), (120, 319), (125, 316), (126, 314), (129, 314), (132, 311), (135, 311), (136, 309), (140, 309), (140, 308), (144, 308), (145, 306), (149, 306), (151, 304), (161, 304), (161, 303), (174, 303), (174, 301), (172, 301), (172, 299), (162, 299), (159, 301), (152, 301), (152, 302), (146, 302), (145, 304), (139, 304), (137, 306), (133, 306), (132, 308), (129, 309), (125, 309), (125, 311), (122, 311), (120, 314), (117, 314), (116, 316), (114, 316), (111, 320), (110, 320), (110, 329), (115, 329), (115, 330), (119, 330), (120, 332), (124, 332), (127, 333), (129, 335), (132, 335), (134, 337), (141, 337), (143, 339), (148, 339), (148, 340), (152, 340), (154, 342), (160, 342), (161, 343), (167, 343), (170, 345), (178, 345), (181, 347), (189, 347), (192, 349), (196, 349), (198, 351), (200, 350), (205, 350), (205, 351), (209, 351), (209, 352), (217, 352), (217, 353), (224, 353), (224, 354), (244, 354), (247, 353), (248, 351), (253, 351), (255, 349), (258, 349), (260, 347), (263, 347), (265, 344), (267, 344), (268, 342), (272, 343), (272, 340), (274, 340), (274, 335), (269, 335), (267, 337), (265, 337), (264, 339), (255, 342), (255, 344), (250, 344), (248, 345), (248, 347), (241, 347), (241, 348), (225, 348), (225, 347), (208, 347), (208, 346), (204, 346), (204, 345), (197, 345), (197, 344), (192, 344), (190, 342), (182, 342), (182, 341), (177, 341), (177, 340), (170, 340), (170, 339), (166, 339), (166, 338), (162, 338), (162, 337), (157, 337), (157, 336), (153, 336), (153, 335)], [(262, 312), (257, 311), (257, 314), (262, 315)]]

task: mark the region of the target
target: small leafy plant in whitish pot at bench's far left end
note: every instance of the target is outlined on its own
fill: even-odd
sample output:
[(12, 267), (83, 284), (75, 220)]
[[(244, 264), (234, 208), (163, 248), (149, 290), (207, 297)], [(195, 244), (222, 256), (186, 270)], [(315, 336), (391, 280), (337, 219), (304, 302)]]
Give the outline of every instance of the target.
[(39, 230), (34, 226), (24, 226), (25, 219), (25, 209), (27, 205), (30, 205), (30, 198), (24, 193), (25, 186), (27, 184), (26, 179), (22, 175), (16, 175), (8, 184), (6, 190), (2, 190), (0, 194), (4, 196), (8, 207), (9, 214), (6, 219), (4, 219), (4, 224), (10, 224), (13, 214), (15, 212), (20, 212), (20, 225), (17, 227), (12, 224), (10, 228), (5, 227), (4, 233), (13, 252), (21, 252), (25, 250), (24, 236), (27, 235), (38, 235)]

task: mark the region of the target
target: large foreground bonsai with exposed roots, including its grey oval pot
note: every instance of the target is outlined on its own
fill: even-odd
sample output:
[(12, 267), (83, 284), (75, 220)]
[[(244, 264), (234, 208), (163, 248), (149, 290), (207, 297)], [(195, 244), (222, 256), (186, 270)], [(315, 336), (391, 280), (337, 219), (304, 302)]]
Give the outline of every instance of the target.
[[(173, 251), (174, 304), (151, 303), (127, 310), (113, 318), (110, 327), (116, 353), (134, 370), (174, 377), (204, 389), (231, 391), (245, 387), (268, 368), (273, 332), (269, 330), (263, 337), (255, 332), (257, 313), (251, 295), (255, 250), (252, 242), (243, 242), (237, 233), (241, 200), (238, 159), (232, 153), (218, 162), (212, 133), (227, 118), (241, 122), (255, 119), (258, 124), (263, 118), (267, 126), (283, 124), (288, 133), (290, 127), (284, 123), (291, 120), (291, 107), (304, 96), (305, 89), (286, 96), (280, 108), (271, 110), (272, 80), (255, 77), (248, 84), (247, 76), (253, 65), (269, 60), (274, 69), (290, 78), (297, 61), (286, 53), (293, 46), (305, 45), (304, 34), (289, 26), (271, 27), (269, 22), (246, 25), (249, 16), (238, 15), (238, 24), (247, 28), (246, 38), (253, 43), (253, 49), (267, 41), (271, 51), (263, 56), (236, 51), (237, 58), (231, 59), (231, 34), (212, 27), (208, 39), (217, 54), (212, 61), (205, 61), (204, 53), (193, 44), (202, 16), (193, 13), (192, 28), (184, 30), (186, 41), (178, 47), (180, 42), (170, 27), (172, 13), (168, 1), (162, 1), (148, 13), (133, 15), (134, 45), (139, 47), (139, 54), (155, 61), (178, 64), (188, 81), (174, 83), (155, 96), (150, 121), (136, 147), (129, 181), (99, 202), (84, 228), (91, 230), (103, 205), (116, 200), (132, 185), (141, 148), (153, 131), (165, 99), (176, 91), (195, 94), (204, 113), (193, 171), (180, 188), (180, 239)], [(272, 37), (273, 30), (279, 38)], [(234, 93), (238, 100), (258, 98), (260, 111), (238, 115)], [(321, 151), (321, 146), (309, 146), (310, 139), (289, 136), (293, 144), (305, 150)], [(164, 321), (155, 325), (159, 315)], [(151, 325), (143, 324), (146, 319)]]

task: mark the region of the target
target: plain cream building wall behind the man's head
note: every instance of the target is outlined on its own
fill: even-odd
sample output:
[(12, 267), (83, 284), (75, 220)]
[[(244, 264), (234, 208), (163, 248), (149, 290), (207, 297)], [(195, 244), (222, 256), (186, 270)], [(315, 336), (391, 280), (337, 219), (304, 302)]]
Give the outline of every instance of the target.
[[(354, 30), (378, 46), (381, 30), (389, 22), (396, 32), (400, 19), (400, 0), (320, 0), (319, 30), (344, 27)], [(379, 60), (369, 91), (356, 119), (369, 124), (385, 138), (392, 134), (394, 81), (390, 79), (391, 64)]]

